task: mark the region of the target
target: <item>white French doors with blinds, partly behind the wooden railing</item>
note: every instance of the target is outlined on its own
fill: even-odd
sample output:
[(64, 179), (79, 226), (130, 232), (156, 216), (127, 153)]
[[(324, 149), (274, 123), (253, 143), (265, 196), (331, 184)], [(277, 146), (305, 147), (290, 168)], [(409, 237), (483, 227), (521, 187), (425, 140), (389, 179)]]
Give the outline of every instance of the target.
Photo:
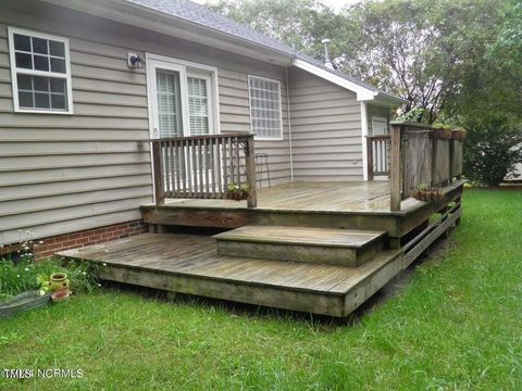
[[(147, 61), (149, 102), (152, 138), (204, 136), (213, 133), (211, 74), (163, 60)], [(164, 187), (173, 190), (181, 184), (187, 192), (207, 184), (208, 171), (213, 178), (214, 164), (210, 151), (190, 148), (188, 144), (162, 154)], [(179, 189), (178, 189), (179, 190)]]

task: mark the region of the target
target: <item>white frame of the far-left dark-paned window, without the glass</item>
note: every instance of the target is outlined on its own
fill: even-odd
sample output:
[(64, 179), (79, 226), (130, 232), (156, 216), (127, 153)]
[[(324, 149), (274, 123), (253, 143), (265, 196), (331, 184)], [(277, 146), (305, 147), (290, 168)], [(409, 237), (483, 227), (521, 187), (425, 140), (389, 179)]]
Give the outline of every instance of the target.
[[(47, 40), (53, 40), (62, 42), (64, 45), (65, 53), (65, 73), (58, 73), (52, 71), (37, 71), (37, 70), (25, 70), (16, 67), (15, 59), (15, 49), (14, 49), (14, 35), (26, 35), (29, 37), (41, 38)], [(34, 31), (25, 28), (18, 27), (8, 27), (8, 40), (9, 40), (9, 60), (11, 67), (11, 86), (13, 90), (13, 111), (15, 113), (34, 113), (34, 114), (59, 114), (59, 115), (71, 115), (74, 114), (73, 110), (73, 86), (71, 77), (71, 52), (69, 48), (69, 38), (60, 37), (55, 35), (50, 35), (46, 33)], [(30, 75), (30, 76), (42, 76), (42, 77), (54, 77), (64, 79), (66, 83), (66, 99), (67, 99), (67, 110), (52, 110), (52, 109), (24, 109), (20, 106), (18, 101), (18, 78), (17, 75)]]

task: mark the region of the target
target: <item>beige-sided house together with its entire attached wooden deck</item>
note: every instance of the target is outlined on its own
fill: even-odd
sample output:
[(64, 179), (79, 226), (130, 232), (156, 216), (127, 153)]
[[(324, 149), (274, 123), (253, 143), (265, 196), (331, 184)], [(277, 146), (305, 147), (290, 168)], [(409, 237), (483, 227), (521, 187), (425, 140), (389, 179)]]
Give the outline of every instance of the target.
[(403, 102), (190, 1), (2, 1), (0, 243), (346, 316), (460, 222), (462, 133)]

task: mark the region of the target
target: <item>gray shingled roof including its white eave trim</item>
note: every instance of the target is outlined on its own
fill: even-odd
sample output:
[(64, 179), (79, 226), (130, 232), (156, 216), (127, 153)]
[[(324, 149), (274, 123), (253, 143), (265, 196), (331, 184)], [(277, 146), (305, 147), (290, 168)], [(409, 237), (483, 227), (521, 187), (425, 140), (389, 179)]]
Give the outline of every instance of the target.
[[(331, 70), (321, 61), (277, 39), (260, 34), (249, 26), (241, 25), (189, 0), (42, 1), (188, 40), (196, 39), (203, 45), (237, 51), (239, 54), (268, 62), (276, 63), (282, 60), (279, 65), (291, 64), (300, 67), (356, 92), (358, 100), (361, 101), (378, 100), (387, 105), (407, 102), (402, 98), (387, 93), (343, 72)], [(177, 23), (173, 23), (174, 21)]]

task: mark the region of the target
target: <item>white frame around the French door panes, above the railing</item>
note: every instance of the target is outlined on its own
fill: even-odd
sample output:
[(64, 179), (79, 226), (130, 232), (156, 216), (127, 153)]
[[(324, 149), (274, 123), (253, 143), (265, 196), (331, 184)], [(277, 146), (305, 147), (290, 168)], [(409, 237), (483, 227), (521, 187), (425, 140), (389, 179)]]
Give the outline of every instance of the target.
[[(183, 137), (190, 136), (190, 124), (188, 118), (188, 91), (186, 87), (187, 74), (196, 74), (198, 71), (208, 72), (211, 78), (210, 83), (210, 92), (209, 97), (212, 98), (212, 104), (209, 105), (209, 116), (212, 115), (211, 121), (209, 121), (209, 134), (210, 135), (220, 135), (221, 134), (221, 119), (220, 119), (220, 93), (219, 93), (219, 84), (217, 84), (217, 68), (215, 66), (198, 64), (190, 61), (178, 60), (175, 58), (170, 58), (160, 54), (145, 53), (145, 61), (147, 63), (147, 105), (149, 112), (149, 131), (151, 138), (156, 137), (154, 134), (154, 108), (158, 105), (156, 97), (156, 70), (157, 67), (162, 67), (161, 64), (165, 66), (178, 66), (183, 68), (182, 74), (184, 75), (184, 80), (182, 86), (185, 87), (182, 89), (182, 111), (183, 111)], [(154, 66), (151, 66), (154, 64)], [(158, 64), (160, 66), (158, 66)]]

